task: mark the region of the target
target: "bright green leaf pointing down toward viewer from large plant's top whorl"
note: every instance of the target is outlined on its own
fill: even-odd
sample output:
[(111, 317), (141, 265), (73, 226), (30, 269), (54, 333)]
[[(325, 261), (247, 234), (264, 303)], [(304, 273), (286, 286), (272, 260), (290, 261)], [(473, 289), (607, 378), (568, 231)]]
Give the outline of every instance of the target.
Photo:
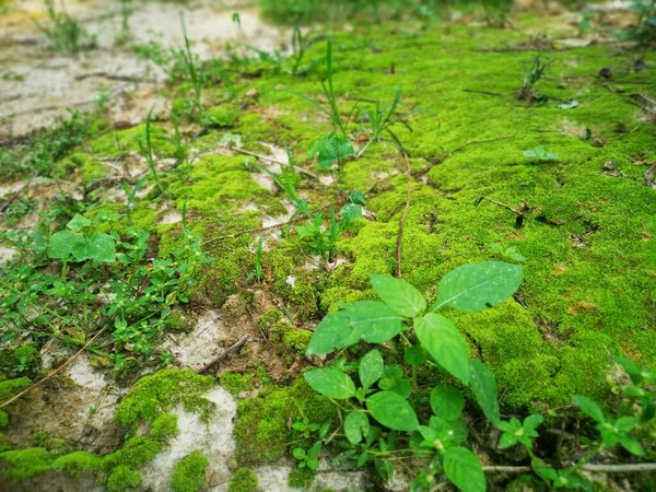
[(469, 384), (469, 355), (465, 341), (454, 324), (442, 315), (429, 313), (414, 320), (421, 344), (446, 371)]

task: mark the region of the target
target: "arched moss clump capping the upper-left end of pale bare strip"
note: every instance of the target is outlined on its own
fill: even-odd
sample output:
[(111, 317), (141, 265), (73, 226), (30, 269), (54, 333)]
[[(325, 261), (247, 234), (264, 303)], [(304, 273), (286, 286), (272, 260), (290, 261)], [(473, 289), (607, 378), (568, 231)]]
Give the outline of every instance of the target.
[(213, 403), (202, 394), (214, 386), (214, 379), (194, 371), (166, 368), (142, 377), (116, 409), (116, 420), (125, 426), (153, 421), (178, 403), (187, 411), (208, 413)]

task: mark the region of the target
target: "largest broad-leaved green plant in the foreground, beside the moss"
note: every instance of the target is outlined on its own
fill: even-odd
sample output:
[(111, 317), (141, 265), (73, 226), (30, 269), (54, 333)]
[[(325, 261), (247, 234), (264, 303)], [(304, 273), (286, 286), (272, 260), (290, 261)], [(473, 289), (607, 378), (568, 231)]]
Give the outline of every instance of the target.
[[(485, 490), (483, 469), (477, 456), (462, 446), (467, 424), (460, 417), (465, 405), (460, 390), (448, 384), (433, 387), (432, 414), (423, 424), (409, 399), (415, 400), (411, 395), (418, 390), (419, 366), (430, 364), (470, 387), (485, 415), (492, 422), (500, 421), (493, 376), (484, 364), (469, 359), (462, 336), (440, 313), (445, 307), (480, 312), (495, 306), (518, 289), (522, 278), (522, 267), (511, 263), (466, 265), (442, 279), (437, 300), (429, 307), (421, 293), (409, 283), (373, 274), (372, 286), (382, 302), (360, 301), (328, 314), (311, 339), (308, 355), (327, 354), (361, 340), (385, 343), (399, 337), (406, 345), (403, 360), (412, 367), (412, 379), (408, 380), (400, 366), (386, 365), (380, 352), (373, 349), (356, 364), (359, 385), (344, 371), (343, 359), (338, 361), (341, 365), (304, 374), (313, 389), (336, 400), (347, 437), (342, 446), (347, 450), (340, 459), (356, 467), (372, 462), (384, 478), (389, 478), (397, 459), (420, 457), (430, 465), (417, 476), (412, 490), (429, 489), (434, 476), (442, 472), (464, 491)], [(407, 440), (401, 438), (399, 432), (412, 434)], [(407, 446), (406, 452), (399, 447), (402, 444)]]

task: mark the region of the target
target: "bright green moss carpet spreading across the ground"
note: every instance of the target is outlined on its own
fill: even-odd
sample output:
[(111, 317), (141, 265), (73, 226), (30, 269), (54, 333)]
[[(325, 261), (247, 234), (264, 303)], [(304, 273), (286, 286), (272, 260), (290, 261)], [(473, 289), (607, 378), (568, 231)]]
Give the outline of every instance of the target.
[[(625, 45), (573, 43), (579, 40), (575, 24), (567, 15), (527, 14), (514, 20), (514, 28), (408, 21), (331, 33), (337, 104), (356, 149), (371, 134), (371, 112), (378, 104), (388, 108), (401, 90), (391, 132), (345, 161), (340, 173), (319, 168), (308, 156), (313, 143), (332, 131), (317, 107), (328, 107), (320, 85), (325, 42), (301, 61), (313, 67), (307, 73), (286, 73), (289, 61), (226, 61), (222, 71), (230, 84), (224, 79), (202, 90), (204, 120), (157, 114), (151, 139), (155, 160), (164, 163), (164, 194), (144, 174), (148, 192), (127, 208), (122, 198), (112, 198), (122, 178), (107, 162), (139, 160), (144, 126), (117, 129), (103, 115), (86, 116), (99, 133), (85, 134), (57, 156), (50, 178), (82, 190), (77, 206), (90, 216), (101, 209), (121, 214), (112, 227), (101, 227), (149, 231), (152, 256), (181, 248), (183, 224), (162, 218), (184, 214), (187, 232), (201, 237), (213, 261), (191, 267), (189, 302), (169, 318), (171, 331), (188, 331), (199, 312), (222, 309), (236, 295), (248, 313), (255, 311), (251, 340), (216, 379), (176, 368), (141, 378), (116, 410), (127, 434), (115, 453), (5, 446), (5, 483), (60, 471), (91, 473), (108, 491), (140, 490), (139, 466), (179, 431), (168, 412), (183, 405), (207, 414), (212, 407), (202, 394), (218, 382), (239, 398), (230, 490), (257, 490), (250, 467), (289, 457), (290, 442), (300, 438), (291, 422), (336, 417), (297, 378), (309, 366), (303, 354), (312, 329), (337, 303), (374, 298), (368, 276), (397, 271), (408, 190), (400, 262), (403, 278), (429, 300), (457, 266), (500, 259), (508, 248), (525, 257), (514, 298), (489, 312), (452, 316), (470, 355), (494, 373), (503, 411), (561, 408), (574, 394), (604, 402), (613, 382), (610, 354), (645, 364), (656, 360), (656, 185), (647, 178), (656, 162), (656, 108), (648, 103), (656, 97), (656, 56), (647, 51), (636, 63), (639, 55)], [(534, 87), (541, 98), (519, 99), (538, 56), (550, 61)], [(610, 78), (599, 75), (605, 68)], [(208, 80), (221, 79), (209, 73)], [(174, 108), (184, 107), (190, 93), (186, 81), (163, 92)], [(176, 161), (178, 118), (189, 157)], [(558, 160), (525, 156), (539, 145)], [(294, 210), (290, 198), (256, 165), (284, 159), (284, 148), (304, 171), (297, 189), (311, 210), (327, 216), (351, 191), (364, 194), (366, 213), (339, 236), (332, 261), (298, 236), (300, 215), (284, 224)], [(17, 172), (7, 180), (21, 177)], [(20, 267), (21, 256), (13, 261)], [(268, 302), (258, 305), (259, 294)], [(44, 339), (23, 335), (27, 343), (9, 339), (0, 349), (0, 402), (46, 374)], [(161, 335), (153, 351), (164, 341)], [(250, 350), (250, 343), (266, 351)], [(99, 347), (107, 348), (112, 342)], [(175, 358), (168, 362), (177, 364)], [(420, 382), (441, 377), (421, 374)], [(0, 423), (11, 425), (12, 407), (4, 410)], [(144, 425), (148, 432), (138, 432)], [(198, 490), (207, 466), (202, 452), (185, 457), (173, 490)]]

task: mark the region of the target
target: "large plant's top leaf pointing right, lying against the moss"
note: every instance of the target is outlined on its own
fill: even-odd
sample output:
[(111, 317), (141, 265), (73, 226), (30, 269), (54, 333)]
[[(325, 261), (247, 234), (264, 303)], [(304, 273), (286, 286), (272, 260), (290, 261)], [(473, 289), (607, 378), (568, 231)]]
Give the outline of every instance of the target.
[(515, 293), (522, 278), (520, 266), (504, 261), (462, 265), (442, 278), (431, 312), (446, 306), (465, 312), (496, 306)]

